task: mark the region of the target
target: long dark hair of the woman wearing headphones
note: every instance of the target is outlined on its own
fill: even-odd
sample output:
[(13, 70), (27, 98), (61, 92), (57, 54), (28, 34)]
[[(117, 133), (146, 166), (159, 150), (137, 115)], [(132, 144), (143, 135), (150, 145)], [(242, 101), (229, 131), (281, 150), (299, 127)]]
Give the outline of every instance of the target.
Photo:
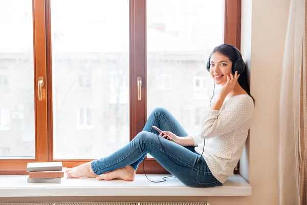
[[(240, 52), (239, 52), (240, 56), (236, 56), (235, 50), (231, 46), (225, 45), (225, 44), (222, 44), (220, 46), (216, 46), (213, 49), (213, 51), (210, 54), (210, 56), (213, 53), (220, 53), (220, 54), (225, 55), (226, 57), (228, 57), (231, 60), (231, 62), (232, 62), (232, 66), (234, 66), (234, 62), (238, 59), (238, 57), (240, 57), (242, 59), (242, 54)], [(247, 80), (247, 67), (246, 67), (246, 64), (245, 64), (244, 71), (240, 74), (240, 76), (238, 78), (238, 83), (247, 92), (247, 94), (249, 96), (251, 96), (251, 98), (253, 99), (254, 104), (255, 104), (255, 99), (251, 95), (250, 87), (249, 87), (248, 80)]]

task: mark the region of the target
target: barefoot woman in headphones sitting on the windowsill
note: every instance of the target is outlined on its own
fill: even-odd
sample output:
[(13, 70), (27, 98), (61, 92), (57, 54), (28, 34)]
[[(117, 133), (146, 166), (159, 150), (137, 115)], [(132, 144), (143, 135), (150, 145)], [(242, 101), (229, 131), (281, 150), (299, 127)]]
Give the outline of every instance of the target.
[[(254, 99), (250, 94), (242, 55), (235, 47), (215, 47), (207, 69), (221, 89), (215, 95), (212, 106), (204, 110), (198, 134), (189, 136), (171, 113), (157, 108), (150, 114), (143, 131), (128, 145), (107, 157), (67, 169), (69, 177), (132, 181), (138, 165), (149, 153), (186, 186), (222, 185), (233, 175), (242, 155)], [(163, 134), (158, 137), (159, 133), (152, 126), (160, 128), (169, 137)]]

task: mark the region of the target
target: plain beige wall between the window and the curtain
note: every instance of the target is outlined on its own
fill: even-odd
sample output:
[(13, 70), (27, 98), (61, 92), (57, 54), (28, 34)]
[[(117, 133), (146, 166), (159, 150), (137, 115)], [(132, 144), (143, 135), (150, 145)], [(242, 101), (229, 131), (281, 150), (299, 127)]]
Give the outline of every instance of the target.
[[(278, 100), (290, 0), (242, 0), (242, 51), (251, 71), (256, 99), (249, 137), (249, 165), (244, 175), (251, 197), (91, 197), (55, 201), (208, 201), (211, 205), (277, 204)], [(251, 19), (250, 19), (251, 18)], [(248, 147), (248, 146), (247, 146)], [(247, 152), (248, 153), (248, 152)]]

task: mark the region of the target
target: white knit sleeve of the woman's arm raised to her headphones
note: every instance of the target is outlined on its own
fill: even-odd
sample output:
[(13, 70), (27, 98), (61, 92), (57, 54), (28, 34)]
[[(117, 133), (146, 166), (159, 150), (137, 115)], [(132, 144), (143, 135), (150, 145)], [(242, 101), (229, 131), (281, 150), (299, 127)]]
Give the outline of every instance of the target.
[(224, 110), (206, 109), (201, 118), (199, 137), (208, 139), (235, 130), (251, 117), (253, 109), (250, 97), (229, 100)]

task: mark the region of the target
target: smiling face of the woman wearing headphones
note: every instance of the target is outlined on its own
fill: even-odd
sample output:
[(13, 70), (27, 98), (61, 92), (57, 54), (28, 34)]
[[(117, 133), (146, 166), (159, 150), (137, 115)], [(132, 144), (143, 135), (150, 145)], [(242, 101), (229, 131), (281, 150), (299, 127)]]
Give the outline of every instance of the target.
[(210, 57), (210, 75), (215, 84), (224, 86), (227, 75), (231, 72), (231, 60), (221, 53), (213, 53)]

